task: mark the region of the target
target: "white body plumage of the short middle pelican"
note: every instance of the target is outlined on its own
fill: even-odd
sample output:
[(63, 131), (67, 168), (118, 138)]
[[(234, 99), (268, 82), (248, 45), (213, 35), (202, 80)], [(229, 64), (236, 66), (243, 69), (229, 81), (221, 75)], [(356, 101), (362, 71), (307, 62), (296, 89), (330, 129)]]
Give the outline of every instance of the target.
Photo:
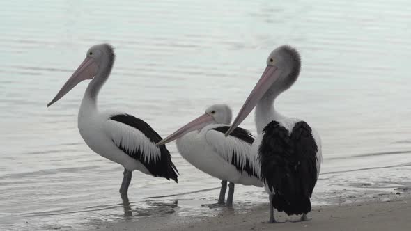
[[(224, 137), (224, 133), (212, 130), (217, 127), (228, 125), (208, 125), (200, 131), (189, 132), (178, 138), (178, 152), (190, 164), (220, 180), (234, 184), (263, 186), (256, 175), (249, 175), (245, 171), (247, 161), (254, 172), (258, 168), (256, 155), (251, 156), (251, 145), (239, 138)], [(238, 158), (234, 159), (234, 154)], [(231, 164), (233, 159), (235, 164)]]

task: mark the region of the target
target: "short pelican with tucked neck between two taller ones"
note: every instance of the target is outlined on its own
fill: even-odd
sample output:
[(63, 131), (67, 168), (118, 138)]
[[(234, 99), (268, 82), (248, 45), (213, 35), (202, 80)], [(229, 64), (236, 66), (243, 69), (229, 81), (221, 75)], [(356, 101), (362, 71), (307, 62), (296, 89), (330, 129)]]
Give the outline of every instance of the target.
[(232, 113), (226, 104), (215, 104), (199, 118), (192, 120), (167, 138), (157, 143), (164, 145), (177, 140), (178, 152), (190, 164), (204, 173), (222, 180), (219, 200), (215, 206), (233, 205), (234, 185), (263, 186), (258, 177), (255, 157), (251, 157), (251, 143), (254, 136), (246, 129), (237, 127), (228, 137), (224, 133), (230, 127)]

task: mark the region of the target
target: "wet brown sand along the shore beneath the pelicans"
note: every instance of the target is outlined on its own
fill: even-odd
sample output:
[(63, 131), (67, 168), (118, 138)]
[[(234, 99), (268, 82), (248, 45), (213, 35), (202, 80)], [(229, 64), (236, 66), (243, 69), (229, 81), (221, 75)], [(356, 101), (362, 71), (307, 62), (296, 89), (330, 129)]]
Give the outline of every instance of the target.
[(267, 207), (255, 207), (236, 214), (225, 209), (214, 217), (145, 218), (140, 221), (105, 225), (99, 230), (411, 230), (411, 198), (377, 198), (375, 201), (350, 205), (313, 207), (310, 221), (297, 221), (297, 216), (276, 214), (277, 221), (263, 223), (268, 218)]

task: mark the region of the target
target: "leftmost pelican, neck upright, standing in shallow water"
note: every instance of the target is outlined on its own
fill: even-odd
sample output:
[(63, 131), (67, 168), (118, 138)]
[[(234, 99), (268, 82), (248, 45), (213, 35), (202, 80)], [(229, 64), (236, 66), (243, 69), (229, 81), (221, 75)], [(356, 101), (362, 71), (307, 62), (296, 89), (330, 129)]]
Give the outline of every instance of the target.
[(88, 49), (83, 63), (47, 107), (61, 99), (79, 82), (91, 79), (79, 110), (79, 132), (91, 150), (124, 167), (120, 187), (123, 197), (127, 196), (133, 170), (175, 182), (178, 170), (166, 146), (155, 145), (162, 138), (146, 122), (121, 111), (98, 110), (97, 96), (109, 78), (114, 57), (114, 49), (108, 44), (94, 45)]

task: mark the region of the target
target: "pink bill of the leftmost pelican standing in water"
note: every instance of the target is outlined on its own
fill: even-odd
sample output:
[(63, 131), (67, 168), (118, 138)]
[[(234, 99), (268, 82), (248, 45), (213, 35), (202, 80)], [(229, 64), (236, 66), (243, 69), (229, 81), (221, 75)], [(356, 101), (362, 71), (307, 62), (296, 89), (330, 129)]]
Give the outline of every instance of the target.
[(82, 64), (77, 67), (77, 70), (72, 74), (72, 76), (65, 82), (59, 93), (54, 97), (54, 99), (47, 104), (51, 106), (57, 102), (61, 97), (67, 94), (72, 88), (74, 88), (79, 82), (86, 79), (93, 79), (95, 74), (97, 74), (98, 66), (93, 61), (93, 58), (86, 57)]

